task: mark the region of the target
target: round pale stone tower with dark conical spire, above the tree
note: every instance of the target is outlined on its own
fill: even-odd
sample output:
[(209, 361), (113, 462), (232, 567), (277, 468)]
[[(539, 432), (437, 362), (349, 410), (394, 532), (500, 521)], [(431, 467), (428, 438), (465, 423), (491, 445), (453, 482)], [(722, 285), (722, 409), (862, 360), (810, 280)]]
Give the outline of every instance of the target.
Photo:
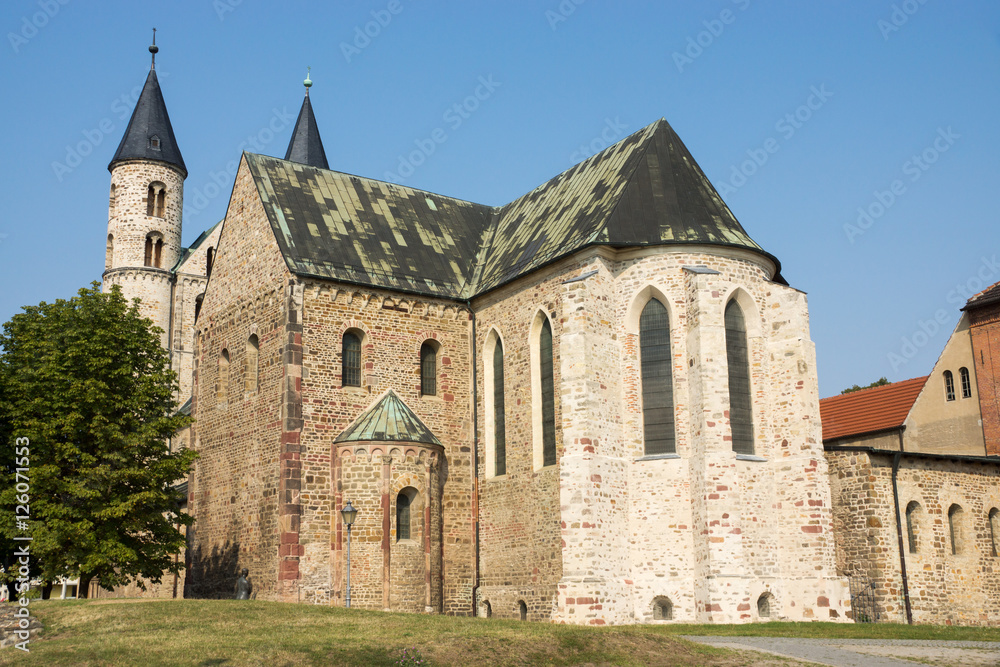
[(181, 212), (187, 168), (181, 157), (160, 83), (156, 78), (156, 30), (152, 62), (114, 158), (108, 205), (104, 289), (120, 285), (141, 300), (143, 315), (170, 331), (171, 269), (181, 256)]

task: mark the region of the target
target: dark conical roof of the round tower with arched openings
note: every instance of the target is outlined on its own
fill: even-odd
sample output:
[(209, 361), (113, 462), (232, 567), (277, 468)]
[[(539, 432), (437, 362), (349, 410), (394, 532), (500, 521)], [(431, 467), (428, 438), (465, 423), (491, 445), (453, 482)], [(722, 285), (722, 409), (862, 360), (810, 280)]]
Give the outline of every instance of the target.
[[(159, 142), (158, 147), (154, 146), (154, 138)], [(174, 138), (174, 128), (170, 125), (167, 105), (163, 102), (160, 83), (156, 79), (156, 70), (152, 69), (146, 77), (146, 85), (142, 88), (139, 101), (135, 103), (135, 110), (132, 111), (125, 136), (122, 137), (122, 142), (118, 144), (118, 150), (108, 165), (108, 171), (111, 171), (118, 162), (133, 159), (157, 160), (172, 164), (180, 167), (182, 174), (187, 178), (187, 167), (184, 166), (181, 149), (177, 146), (177, 139)]]

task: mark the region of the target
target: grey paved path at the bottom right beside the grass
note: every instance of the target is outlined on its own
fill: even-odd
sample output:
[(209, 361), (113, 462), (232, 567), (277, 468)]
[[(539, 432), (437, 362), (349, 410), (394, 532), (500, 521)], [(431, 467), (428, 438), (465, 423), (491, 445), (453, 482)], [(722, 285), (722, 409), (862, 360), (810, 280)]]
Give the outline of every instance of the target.
[(694, 637), (722, 648), (762, 651), (835, 667), (989, 667), (1000, 665), (1000, 643), (922, 639), (789, 639), (778, 637)]

